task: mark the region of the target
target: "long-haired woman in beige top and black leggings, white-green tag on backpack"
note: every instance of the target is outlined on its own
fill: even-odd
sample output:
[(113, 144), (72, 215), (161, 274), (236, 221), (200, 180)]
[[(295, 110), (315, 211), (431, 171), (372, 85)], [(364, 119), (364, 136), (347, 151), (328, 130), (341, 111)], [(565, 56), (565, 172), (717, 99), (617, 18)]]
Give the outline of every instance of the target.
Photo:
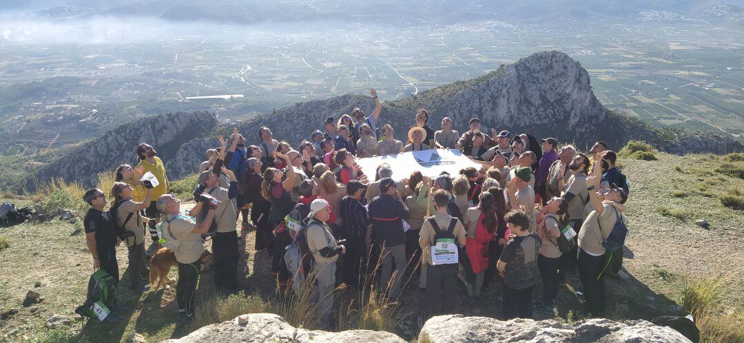
[(558, 270), (562, 252), (558, 248), (558, 237), (561, 228), (568, 225), (568, 202), (555, 197), (541, 210), (538, 217), (542, 221), (537, 225), (537, 235), (542, 240), (540, 254), (537, 257), (537, 269), (542, 278), (542, 304), (535, 304), (533, 310), (539, 313), (552, 314), (558, 294)]

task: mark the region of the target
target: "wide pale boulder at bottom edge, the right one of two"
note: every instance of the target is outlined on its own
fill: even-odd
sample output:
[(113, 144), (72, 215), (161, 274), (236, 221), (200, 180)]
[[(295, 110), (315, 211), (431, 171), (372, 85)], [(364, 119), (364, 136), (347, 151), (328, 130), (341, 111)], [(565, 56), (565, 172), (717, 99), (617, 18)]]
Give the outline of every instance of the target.
[(576, 324), (554, 320), (513, 319), (500, 321), (485, 317), (440, 315), (426, 321), (419, 342), (664, 342), (689, 343), (670, 327), (658, 327), (648, 321), (588, 319)]

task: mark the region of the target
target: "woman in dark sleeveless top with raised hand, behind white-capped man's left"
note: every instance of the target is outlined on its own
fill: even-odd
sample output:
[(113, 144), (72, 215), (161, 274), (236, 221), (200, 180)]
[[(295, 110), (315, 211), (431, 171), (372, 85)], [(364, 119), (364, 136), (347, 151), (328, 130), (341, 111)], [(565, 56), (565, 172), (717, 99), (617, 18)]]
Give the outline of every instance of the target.
[[(276, 152), (274, 155), (285, 161), (287, 165), (291, 164), (289, 157), (283, 153)], [(284, 173), (281, 170), (266, 168), (261, 183), (261, 195), (272, 204), (272, 207), (269, 208), (269, 228), (272, 228), (275, 238), (272, 251), (272, 275), (279, 275), (280, 283), (286, 283), (289, 279), (286, 268), (280, 268), (280, 266), (284, 248), (289, 245), (289, 241), (292, 239), (289, 231), (284, 226), (284, 217), (295, 206), (292, 196), (289, 195), (295, 185), (295, 168), (289, 167), (286, 170), (286, 179), (283, 179)]]

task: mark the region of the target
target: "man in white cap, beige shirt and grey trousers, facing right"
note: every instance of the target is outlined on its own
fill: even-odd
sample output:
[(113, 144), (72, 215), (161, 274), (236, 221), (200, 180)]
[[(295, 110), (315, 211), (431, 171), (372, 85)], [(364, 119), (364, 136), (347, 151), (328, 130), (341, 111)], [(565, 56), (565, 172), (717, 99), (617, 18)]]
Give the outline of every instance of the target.
[(307, 247), (312, 253), (312, 275), (315, 287), (312, 289), (312, 303), (318, 310), (318, 328), (327, 328), (333, 310), (333, 288), (336, 287), (336, 260), (339, 254), (346, 253), (346, 247), (339, 246), (325, 222), (330, 218), (330, 207), (324, 199), (310, 203), (305, 229)]

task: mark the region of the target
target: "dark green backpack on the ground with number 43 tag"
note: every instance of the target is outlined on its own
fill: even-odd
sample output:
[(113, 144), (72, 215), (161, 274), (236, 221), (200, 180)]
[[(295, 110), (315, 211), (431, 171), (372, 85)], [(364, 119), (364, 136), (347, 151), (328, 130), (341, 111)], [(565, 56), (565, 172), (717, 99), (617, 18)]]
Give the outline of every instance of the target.
[(98, 318), (100, 321), (113, 310), (114, 289), (116, 281), (105, 270), (98, 269), (88, 281), (88, 295), (86, 302), (75, 309), (75, 313), (88, 318)]

